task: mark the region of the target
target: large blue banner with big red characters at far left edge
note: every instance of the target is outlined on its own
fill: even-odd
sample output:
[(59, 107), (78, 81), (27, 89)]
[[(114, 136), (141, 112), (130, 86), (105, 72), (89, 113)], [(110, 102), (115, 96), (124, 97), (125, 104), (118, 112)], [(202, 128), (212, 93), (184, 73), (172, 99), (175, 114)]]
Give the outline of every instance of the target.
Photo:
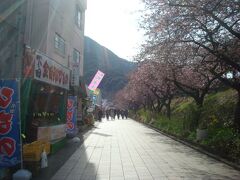
[(0, 167), (21, 162), (19, 81), (0, 80)]

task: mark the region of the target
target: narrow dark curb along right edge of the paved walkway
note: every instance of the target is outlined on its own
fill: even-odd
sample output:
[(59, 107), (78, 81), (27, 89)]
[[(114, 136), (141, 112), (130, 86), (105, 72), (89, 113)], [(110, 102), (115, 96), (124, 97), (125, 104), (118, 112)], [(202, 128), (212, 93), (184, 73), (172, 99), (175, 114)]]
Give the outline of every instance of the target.
[(224, 158), (222, 158), (222, 157), (220, 157), (220, 156), (217, 156), (217, 155), (215, 155), (215, 154), (212, 154), (212, 153), (204, 150), (203, 148), (198, 147), (198, 146), (196, 146), (196, 145), (194, 145), (194, 144), (191, 144), (191, 143), (189, 143), (189, 142), (186, 142), (186, 141), (184, 141), (184, 140), (181, 140), (181, 139), (177, 138), (176, 136), (173, 136), (173, 135), (170, 135), (170, 134), (168, 134), (168, 133), (166, 133), (166, 132), (163, 132), (163, 131), (161, 131), (160, 129), (158, 129), (158, 128), (156, 128), (156, 127), (153, 127), (152, 125), (145, 124), (145, 123), (139, 122), (139, 121), (137, 121), (137, 120), (135, 120), (135, 121), (138, 122), (138, 123), (140, 123), (140, 124), (143, 124), (144, 126), (150, 128), (150, 129), (152, 129), (152, 130), (154, 130), (154, 131), (157, 131), (158, 133), (161, 133), (161, 134), (164, 135), (164, 136), (167, 136), (167, 137), (169, 137), (169, 138), (171, 138), (171, 139), (173, 139), (173, 140), (175, 140), (175, 141), (178, 141), (178, 142), (180, 142), (180, 143), (182, 143), (182, 144), (184, 144), (184, 145), (186, 145), (186, 146), (188, 146), (188, 147), (190, 147), (190, 148), (192, 148), (192, 149), (194, 149), (194, 150), (197, 150), (198, 152), (201, 152), (201, 153), (203, 153), (203, 154), (205, 154), (205, 155), (207, 155), (207, 156), (209, 156), (209, 157), (211, 157), (211, 158), (213, 158), (213, 159), (215, 159), (215, 160), (218, 160), (218, 161), (220, 161), (220, 162), (222, 162), (222, 163), (224, 163), (224, 164), (227, 164), (228, 166), (230, 166), (230, 167), (232, 167), (232, 168), (240, 171), (240, 165), (238, 165), (238, 164), (236, 164), (236, 163), (233, 163), (233, 162), (228, 161), (228, 160), (226, 160), (226, 159), (224, 159)]

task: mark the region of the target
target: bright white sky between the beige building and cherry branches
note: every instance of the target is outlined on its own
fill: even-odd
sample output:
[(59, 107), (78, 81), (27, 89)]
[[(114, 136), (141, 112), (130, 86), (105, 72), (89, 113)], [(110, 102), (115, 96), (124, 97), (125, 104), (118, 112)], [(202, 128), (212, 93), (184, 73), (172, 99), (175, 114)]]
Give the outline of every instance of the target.
[(131, 61), (143, 41), (142, 7), (140, 0), (87, 0), (85, 35)]

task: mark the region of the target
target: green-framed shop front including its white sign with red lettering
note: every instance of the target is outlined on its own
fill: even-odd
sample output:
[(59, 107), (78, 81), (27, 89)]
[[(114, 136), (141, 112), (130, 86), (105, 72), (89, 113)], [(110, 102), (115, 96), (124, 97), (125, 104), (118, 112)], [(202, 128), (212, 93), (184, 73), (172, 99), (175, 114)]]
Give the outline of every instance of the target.
[(66, 135), (70, 70), (40, 52), (26, 53), (27, 70), (23, 70), (21, 88), (25, 140), (31, 143), (61, 139)]

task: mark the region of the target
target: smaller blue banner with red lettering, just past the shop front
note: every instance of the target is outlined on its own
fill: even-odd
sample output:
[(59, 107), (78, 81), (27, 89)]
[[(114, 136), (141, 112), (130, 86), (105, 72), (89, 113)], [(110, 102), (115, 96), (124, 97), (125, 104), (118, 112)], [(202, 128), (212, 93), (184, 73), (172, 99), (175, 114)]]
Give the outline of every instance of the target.
[(77, 96), (69, 96), (67, 102), (67, 134), (74, 134), (77, 123)]

